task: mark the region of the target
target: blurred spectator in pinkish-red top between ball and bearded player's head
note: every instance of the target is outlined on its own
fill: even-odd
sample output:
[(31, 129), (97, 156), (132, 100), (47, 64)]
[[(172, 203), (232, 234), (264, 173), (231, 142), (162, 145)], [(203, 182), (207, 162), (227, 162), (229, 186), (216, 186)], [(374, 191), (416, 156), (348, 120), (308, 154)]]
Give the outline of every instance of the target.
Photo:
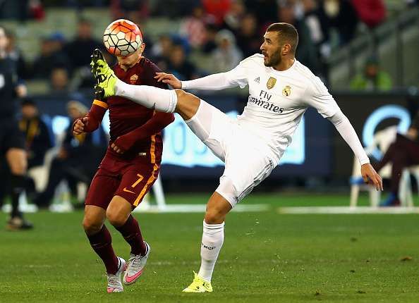
[(202, 6), (195, 6), (192, 15), (183, 20), (181, 24), (180, 34), (186, 37), (191, 47), (199, 49), (205, 43), (207, 37), (205, 34), (205, 12)]

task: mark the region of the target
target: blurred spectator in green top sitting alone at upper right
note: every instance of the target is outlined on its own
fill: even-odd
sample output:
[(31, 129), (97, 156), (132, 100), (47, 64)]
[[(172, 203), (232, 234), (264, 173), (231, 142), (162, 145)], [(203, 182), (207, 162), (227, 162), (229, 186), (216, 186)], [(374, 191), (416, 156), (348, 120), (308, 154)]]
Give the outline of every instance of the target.
[(392, 88), (390, 75), (380, 70), (375, 56), (368, 58), (363, 73), (351, 81), (353, 90), (387, 91)]

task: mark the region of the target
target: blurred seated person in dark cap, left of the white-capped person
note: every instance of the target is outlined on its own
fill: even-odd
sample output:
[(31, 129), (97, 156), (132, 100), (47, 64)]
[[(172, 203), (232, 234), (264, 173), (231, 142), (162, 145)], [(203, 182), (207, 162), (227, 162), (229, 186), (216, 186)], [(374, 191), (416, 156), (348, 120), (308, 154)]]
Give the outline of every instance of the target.
[(45, 154), (54, 146), (54, 137), (32, 99), (23, 99), (20, 111), (19, 128), (25, 134), (28, 168), (42, 166)]

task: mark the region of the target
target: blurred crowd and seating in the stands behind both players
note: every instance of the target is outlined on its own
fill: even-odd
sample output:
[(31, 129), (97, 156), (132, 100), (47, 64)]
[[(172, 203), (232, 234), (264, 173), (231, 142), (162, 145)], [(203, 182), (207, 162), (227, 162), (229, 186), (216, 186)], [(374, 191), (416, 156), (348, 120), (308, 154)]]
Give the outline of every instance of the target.
[[(88, 94), (90, 54), (102, 47), (104, 28), (116, 18), (138, 23), (145, 56), (181, 79), (233, 68), (259, 51), (267, 25), (292, 23), (300, 35), (298, 60), (324, 80), (332, 78), (327, 81), (332, 88), (349, 89), (371, 56), (383, 72), (388, 68), (379, 50), (353, 49), (348, 56), (360, 60), (342, 71), (339, 58), (346, 49), (417, 5), (415, 0), (18, 0), (0, 2), (0, 23), (9, 30), (9, 52), (30, 94)], [(387, 83), (399, 76), (399, 70), (387, 72)], [(418, 78), (413, 75), (413, 81)]]

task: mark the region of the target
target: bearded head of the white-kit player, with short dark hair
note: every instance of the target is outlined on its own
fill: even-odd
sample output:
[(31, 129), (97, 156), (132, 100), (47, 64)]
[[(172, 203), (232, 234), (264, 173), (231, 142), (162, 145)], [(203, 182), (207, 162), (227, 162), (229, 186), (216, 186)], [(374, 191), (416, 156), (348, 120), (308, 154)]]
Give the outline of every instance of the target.
[(273, 23), (263, 35), (264, 42), (260, 47), (265, 66), (277, 66), (282, 58), (296, 55), (298, 32), (289, 23)]

